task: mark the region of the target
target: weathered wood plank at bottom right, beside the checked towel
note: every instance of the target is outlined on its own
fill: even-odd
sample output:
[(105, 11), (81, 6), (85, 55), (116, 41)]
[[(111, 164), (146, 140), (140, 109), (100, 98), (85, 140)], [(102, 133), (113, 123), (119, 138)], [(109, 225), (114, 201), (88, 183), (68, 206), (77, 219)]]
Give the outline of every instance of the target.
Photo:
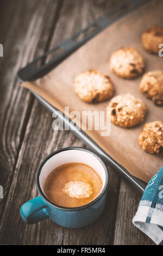
[(121, 180), (114, 245), (154, 245), (154, 242), (132, 223), (140, 199), (140, 194), (130, 184)]

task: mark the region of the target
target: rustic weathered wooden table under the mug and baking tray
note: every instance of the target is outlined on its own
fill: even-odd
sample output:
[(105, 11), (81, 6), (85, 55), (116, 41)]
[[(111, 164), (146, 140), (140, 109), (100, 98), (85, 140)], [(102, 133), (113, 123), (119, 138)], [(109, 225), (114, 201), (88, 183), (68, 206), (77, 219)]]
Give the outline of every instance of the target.
[(85, 147), (70, 131), (53, 131), (52, 114), (20, 87), (17, 70), (117, 7), (118, 0), (5, 0), (0, 10), (0, 243), (10, 245), (153, 245), (131, 220), (140, 201), (135, 188), (110, 168), (108, 203), (96, 223), (82, 229), (51, 220), (27, 225), (20, 206), (37, 196), (36, 169), (49, 153)]

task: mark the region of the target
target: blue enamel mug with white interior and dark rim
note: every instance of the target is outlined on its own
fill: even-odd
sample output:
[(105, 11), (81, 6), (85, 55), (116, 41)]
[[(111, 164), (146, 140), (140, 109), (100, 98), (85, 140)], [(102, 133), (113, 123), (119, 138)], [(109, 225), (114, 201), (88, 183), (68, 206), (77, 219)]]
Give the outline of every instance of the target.
[[(53, 203), (43, 192), (46, 178), (53, 169), (61, 164), (81, 162), (91, 166), (101, 176), (103, 186), (98, 196), (90, 203), (68, 208)], [(69, 147), (54, 151), (41, 163), (36, 174), (36, 186), (40, 196), (21, 206), (20, 214), (24, 222), (33, 224), (51, 218), (52, 221), (66, 228), (82, 228), (96, 221), (102, 214), (106, 203), (106, 191), (109, 175), (105, 163), (91, 150)]]

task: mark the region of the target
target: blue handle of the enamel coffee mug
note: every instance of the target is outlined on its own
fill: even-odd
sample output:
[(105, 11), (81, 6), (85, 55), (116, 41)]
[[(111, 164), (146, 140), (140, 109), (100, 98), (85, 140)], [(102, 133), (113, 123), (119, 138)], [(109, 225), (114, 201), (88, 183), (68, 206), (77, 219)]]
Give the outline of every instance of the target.
[(47, 207), (47, 204), (40, 196), (35, 197), (21, 206), (20, 215), (23, 221), (27, 224), (34, 224), (49, 218), (49, 216), (43, 210)]

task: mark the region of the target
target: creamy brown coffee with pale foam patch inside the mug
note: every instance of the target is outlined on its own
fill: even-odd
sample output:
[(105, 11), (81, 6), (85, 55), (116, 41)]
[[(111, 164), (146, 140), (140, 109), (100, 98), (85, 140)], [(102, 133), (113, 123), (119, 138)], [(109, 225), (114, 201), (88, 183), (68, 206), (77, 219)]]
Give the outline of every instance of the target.
[(78, 207), (90, 203), (102, 189), (98, 173), (84, 163), (65, 163), (47, 177), (43, 190), (55, 204)]

